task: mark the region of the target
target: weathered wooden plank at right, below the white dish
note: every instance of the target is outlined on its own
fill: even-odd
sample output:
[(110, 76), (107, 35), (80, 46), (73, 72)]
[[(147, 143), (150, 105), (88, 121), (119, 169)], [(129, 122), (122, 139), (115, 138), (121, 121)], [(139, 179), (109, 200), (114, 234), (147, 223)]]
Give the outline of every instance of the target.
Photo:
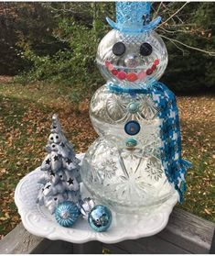
[(209, 253), (214, 228), (214, 223), (175, 208), (167, 228), (156, 236), (191, 253)]

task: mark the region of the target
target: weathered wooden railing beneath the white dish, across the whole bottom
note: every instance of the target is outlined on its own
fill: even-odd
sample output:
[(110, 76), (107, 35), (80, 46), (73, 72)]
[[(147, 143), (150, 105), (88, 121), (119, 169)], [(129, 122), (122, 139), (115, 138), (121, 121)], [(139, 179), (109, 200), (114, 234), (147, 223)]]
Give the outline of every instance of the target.
[[(132, 231), (131, 227), (131, 231)], [(41, 254), (91, 254), (102, 253), (102, 248), (113, 253), (214, 253), (212, 244), (215, 224), (201, 217), (175, 208), (169, 218), (167, 228), (156, 236), (125, 240), (115, 244), (91, 241), (72, 244), (62, 240), (38, 238), (27, 232), (20, 223), (0, 241), (0, 253), (41, 253)], [(213, 241), (214, 243), (215, 241)]]

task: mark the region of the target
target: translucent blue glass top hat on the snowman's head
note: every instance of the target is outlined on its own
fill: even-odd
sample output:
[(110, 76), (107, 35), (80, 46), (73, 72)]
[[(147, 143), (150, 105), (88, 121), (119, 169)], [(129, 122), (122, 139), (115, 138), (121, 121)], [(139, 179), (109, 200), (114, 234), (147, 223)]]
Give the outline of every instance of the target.
[(151, 30), (161, 21), (156, 17), (150, 22), (150, 2), (116, 2), (116, 23), (106, 17), (109, 25), (124, 33), (141, 33)]

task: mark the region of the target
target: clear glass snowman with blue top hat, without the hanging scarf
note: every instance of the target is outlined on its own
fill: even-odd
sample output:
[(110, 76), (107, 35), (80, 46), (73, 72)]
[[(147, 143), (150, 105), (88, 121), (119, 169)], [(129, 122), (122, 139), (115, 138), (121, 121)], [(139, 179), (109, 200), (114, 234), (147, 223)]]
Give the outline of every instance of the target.
[[(167, 48), (149, 21), (148, 2), (117, 2), (113, 27), (96, 61), (107, 83), (92, 96), (99, 139), (87, 151), (81, 177), (91, 195), (119, 213), (153, 211), (176, 186), (162, 162), (161, 110), (151, 92), (167, 67)], [(180, 181), (179, 181), (180, 182)]]

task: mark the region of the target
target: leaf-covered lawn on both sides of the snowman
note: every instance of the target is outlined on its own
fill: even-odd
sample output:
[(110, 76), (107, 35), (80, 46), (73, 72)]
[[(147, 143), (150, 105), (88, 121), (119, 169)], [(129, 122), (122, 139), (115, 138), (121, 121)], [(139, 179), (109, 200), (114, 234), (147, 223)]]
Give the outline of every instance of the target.
[[(20, 221), (14, 204), (18, 181), (46, 156), (50, 117), (59, 114), (65, 134), (76, 152), (85, 151), (97, 137), (86, 103), (80, 112), (70, 104), (70, 87), (56, 84), (20, 84), (0, 80), (0, 239)], [(188, 191), (182, 207), (215, 221), (213, 96), (180, 96), (183, 155), (192, 161)]]

